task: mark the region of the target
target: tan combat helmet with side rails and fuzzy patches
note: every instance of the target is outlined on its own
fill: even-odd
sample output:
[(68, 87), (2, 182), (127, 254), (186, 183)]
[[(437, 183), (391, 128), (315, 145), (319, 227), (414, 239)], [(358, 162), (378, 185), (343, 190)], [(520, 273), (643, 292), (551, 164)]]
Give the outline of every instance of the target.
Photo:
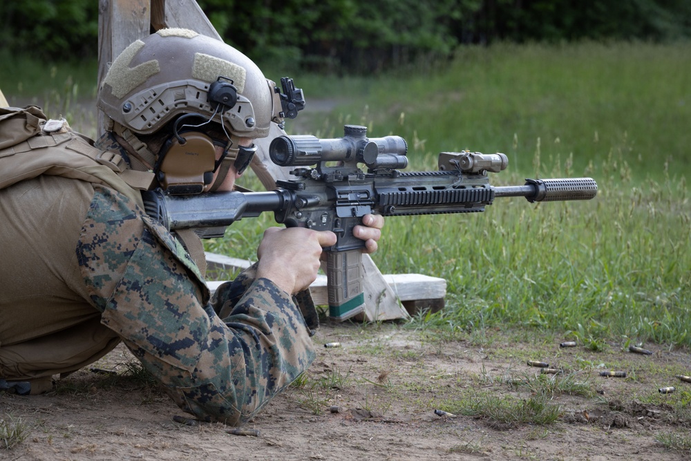
[(243, 138), (264, 138), (272, 121), (283, 121), (274, 82), (252, 60), (223, 41), (178, 28), (128, 46), (109, 68), (97, 106), (138, 134), (155, 133), (185, 113), (216, 122), (222, 114), (225, 128)]

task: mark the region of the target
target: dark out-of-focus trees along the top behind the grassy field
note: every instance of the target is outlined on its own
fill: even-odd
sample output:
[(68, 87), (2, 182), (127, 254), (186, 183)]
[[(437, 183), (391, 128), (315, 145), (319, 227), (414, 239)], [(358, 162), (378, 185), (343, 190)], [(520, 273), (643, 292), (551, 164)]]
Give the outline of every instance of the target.
[[(372, 73), (492, 41), (691, 36), (688, 0), (198, 0), (225, 40), (258, 62)], [(0, 4), (0, 47), (41, 59), (97, 55), (96, 0)]]

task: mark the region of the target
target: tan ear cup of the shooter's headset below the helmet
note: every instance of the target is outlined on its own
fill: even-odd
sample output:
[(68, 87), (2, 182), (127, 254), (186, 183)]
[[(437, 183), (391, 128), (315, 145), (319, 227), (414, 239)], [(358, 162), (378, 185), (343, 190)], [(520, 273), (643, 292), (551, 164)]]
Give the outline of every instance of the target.
[(201, 194), (214, 179), (214, 142), (198, 131), (180, 134), (184, 142), (173, 136), (161, 149), (155, 166), (156, 179), (170, 194)]

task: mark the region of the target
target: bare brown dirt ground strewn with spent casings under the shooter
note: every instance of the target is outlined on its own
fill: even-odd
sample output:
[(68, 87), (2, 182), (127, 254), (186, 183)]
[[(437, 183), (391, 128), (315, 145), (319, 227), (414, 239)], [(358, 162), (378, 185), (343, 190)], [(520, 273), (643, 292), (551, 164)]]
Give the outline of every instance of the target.
[[(559, 340), (508, 344), (499, 331), (444, 338), (390, 323), (323, 325), (314, 337), (319, 356), (305, 379), (244, 426), (256, 437), (231, 435), (222, 424), (189, 425), (158, 388), (128, 376), (133, 358), (118, 346), (95, 364), (117, 376), (84, 369), (48, 395), (0, 394), (0, 418), (21, 419), (27, 433), (12, 449), (0, 448), (0, 459), (691, 459), (689, 451), (666, 450), (655, 440), (689, 432), (691, 417), (679, 412), (679, 398), (688, 398), (691, 384), (671, 375), (691, 370), (688, 351), (592, 352), (560, 348)], [(330, 342), (341, 346), (323, 346)], [(559, 416), (546, 424), (466, 415), (463, 408), (478, 399), (526, 402), (534, 389), (512, 386), (511, 379), (538, 382), (530, 359), (578, 368), (578, 379), (594, 392), (554, 393), (549, 404), (559, 406)], [(601, 361), (627, 368), (630, 377), (601, 377)], [(663, 385), (676, 386), (676, 393), (660, 395)], [(332, 406), (340, 411), (332, 413)], [(436, 415), (439, 408), (457, 414)]]

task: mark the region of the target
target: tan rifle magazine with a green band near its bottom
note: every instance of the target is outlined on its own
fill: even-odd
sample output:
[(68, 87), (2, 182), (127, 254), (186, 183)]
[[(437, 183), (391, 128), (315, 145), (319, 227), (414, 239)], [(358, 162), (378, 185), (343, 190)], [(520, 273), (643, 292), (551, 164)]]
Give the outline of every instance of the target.
[(362, 250), (329, 251), (326, 254), (329, 317), (350, 319), (365, 310)]

